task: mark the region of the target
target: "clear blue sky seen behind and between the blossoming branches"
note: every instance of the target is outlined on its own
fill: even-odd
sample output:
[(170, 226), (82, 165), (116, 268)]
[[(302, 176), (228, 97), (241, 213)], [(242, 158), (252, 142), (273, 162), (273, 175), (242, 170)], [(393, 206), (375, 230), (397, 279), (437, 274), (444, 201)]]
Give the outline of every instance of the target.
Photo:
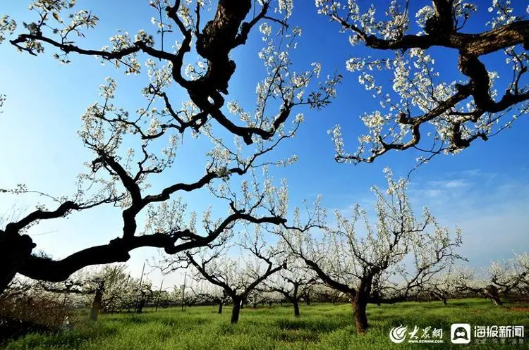
[[(482, 1), (479, 1), (480, 3)], [(513, 1), (516, 2), (516, 1)], [(310, 3), (310, 6), (308, 5)], [(349, 149), (355, 149), (355, 140), (365, 132), (359, 117), (377, 106), (371, 92), (358, 85), (355, 74), (348, 73), (345, 61), (351, 56), (366, 54), (365, 49), (353, 48), (346, 35), (339, 34), (336, 23), (329, 23), (316, 13), (313, 1), (307, 4), (295, 2), (293, 25), (303, 30), (298, 50), (293, 54), (295, 68), (310, 68), (313, 61), (321, 62), (324, 74), (334, 69), (344, 75), (338, 87), (338, 97), (324, 110), (305, 110), (305, 122), (295, 139), (288, 140), (277, 150), (278, 158), (297, 154), (299, 161), (289, 168), (274, 170), (276, 180), (288, 179), (291, 206), (303, 199), (313, 200), (317, 194), (324, 196), (327, 208), (346, 211), (356, 202), (369, 205), (372, 201), (370, 186), (384, 185), (382, 169), (389, 165), (396, 175), (406, 175), (415, 165), (415, 151), (387, 154), (373, 164), (346, 165), (334, 162), (334, 144), (327, 130), (335, 124), (343, 126)], [(518, 1), (523, 5), (525, 1)], [(125, 6), (126, 1), (78, 1), (78, 8), (90, 6), (100, 18), (96, 30), (88, 33), (82, 42), (84, 47), (100, 48), (117, 28), (130, 33), (140, 28), (154, 32), (148, 1), (138, 1), (136, 6)], [(21, 23), (31, 20), (27, 1), (11, 1), (1, 6), (0, 14), (8, 14)], [(484, 4), (480, 12), (469, 23), (468, 30), (479, 30), (486, 13)], [(179, 37), (175, 37), (179, 39)], [(262, 47), (260, 35), (254, 32), (243, 48), (233, 52), (238, 64), (236, 74), (230, 82), (229, 96), (243, 104), (255, 100), (255, 83), (264, 77), (262, 63), (257, 52)], [(85, 108), (97, 101), (98, 87), (104, 77), (118, 79), (117, 98), (120, 106), (135, 111), (139, 90), (145, 82), (142, 77), (124, 76), (121, 70), (110, 65), (102, 66), (93, 57), (73, 55), (70, 65), (61, 65), (51, 57), (54, 51), (39, 57), (19, 54), (13, 46), (0, 45), (0, 92), (8, 95), (4, 113), (0, 114), (0, 187), (13, 187), (23, 182), (32, 189), (54, 195), (73, 192), (75, 177), (83, 171), (83, 162), (91, 159), (76, 131), (80, 128), (80, 115)], [(437, 59), (442, 77), (459, 79), (455, 57)], [(504, 58), (492, 56), (490, 63), (500, 77)], [(173, 87), (174, 99), (186, 96)], [(179, 104), (179, 102), (176, 102)], [(461, 254), (470, 259), (470, 264), (482, 266), (491, 260), (510, 258), (512, 251), (528, 251), (529, 240), (529, 156), (525, 151), (525, 139), (529, 131), (529, 120), (520, 118), (511, 130), (493, 137), (488, 142), (475, 142), (457, 156), (438, 156), (431, 163), (420, 167), (413, 175), (410, 194), (413, 204), (420, 208), (429, 205), (432, 213), (442, 224), (463, 228)], [(157, 177), (153, 184), (167, 184), (193, 180), (204, 170), (202, 155), (205, 144), (190, 140), (182, 153), (178, 154), (174, 169)], [(200, 154), (200, 156), (197, 156)], [(157, 184), (157, 181), (160, 183)], [(11, 196), (0, 200), (0, 213), (8, 211), (14, 204), (19, 208), (31, 208), (35, 197)], [(201, 213), (211, 199), (206, 191), (188, 196), (190, 208)], [(221, 206), (214, 213), (225, 213)], [(93, 244), (105, 244), (120, 235), (121, 215), (114, 208), (96, 208), (83, 213), (73, 213), (67, 220), (52, 220), (32, 228), (30, 234), (37, 248), (47, 251), (55, 258), (83, 249)], [(154, 249), (133, 252), (130, 266), (139, 274), (142, 262), (156, 254)], [(156, 280), (158, 277), (153, 275)], [(178, 276), (172, 277), (178, 280)]]

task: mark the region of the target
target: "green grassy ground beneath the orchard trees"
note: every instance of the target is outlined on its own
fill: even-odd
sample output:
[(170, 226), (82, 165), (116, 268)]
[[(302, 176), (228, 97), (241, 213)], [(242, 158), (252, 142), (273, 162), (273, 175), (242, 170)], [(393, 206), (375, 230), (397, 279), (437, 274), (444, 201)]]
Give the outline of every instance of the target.
[[(525, 344), (451, 344), (451, 323), (470, 325), (525, 325), (529, 333), (528, 304), (493, 307), (478, 299), (370, 306), (372, 328), (359, 337), (353, 327), (351, 306), (301, 306), (300, 318), (291, 307), (243, 308), (237, 325), (229, 323), (231, 308), (216, 313), (214, 306), (147, 311), (142, 315), (102, 315), (97, 324), (79, 322), (59, 335), (27, 335), (6, 349), (529, 349)], [(442, 327), (444, 344), (394, 344), (389, 330), (398, 325)]]

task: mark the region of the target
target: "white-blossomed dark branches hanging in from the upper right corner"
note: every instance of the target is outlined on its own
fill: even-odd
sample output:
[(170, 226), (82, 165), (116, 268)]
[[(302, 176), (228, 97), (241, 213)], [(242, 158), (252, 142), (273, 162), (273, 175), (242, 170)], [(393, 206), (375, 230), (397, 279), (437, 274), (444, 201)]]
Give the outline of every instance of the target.
[[(316, 1), (318, 13), (337, 22), (352, 46), (367, 47), (369, 56), (351, 51), (355, 56), (346, 69), (379, 102), (376, 111), (361, 116), (367, 132), (358, 137), (356, 151), (346, 148), (340, 125), (329, 130), (336, 161), (372, 162), (391, 150), (417, 149), (423, 154), (419, 164), (425, 163), (487, 140), (528, 112), (529, 23), (523, 1), (488, 1), (488, 20), (472, 34), (466, 33), (467, 22), (487, 1), (419, 2), (423, 5)], [(447, 78), (437, 61), (446, 61), (449, 51), (458, 54), (459, 71)], [(485, 65), (488, 56), (498, 65)], [(502, 86), (494, 70), (503, 64), (512, 73)]]

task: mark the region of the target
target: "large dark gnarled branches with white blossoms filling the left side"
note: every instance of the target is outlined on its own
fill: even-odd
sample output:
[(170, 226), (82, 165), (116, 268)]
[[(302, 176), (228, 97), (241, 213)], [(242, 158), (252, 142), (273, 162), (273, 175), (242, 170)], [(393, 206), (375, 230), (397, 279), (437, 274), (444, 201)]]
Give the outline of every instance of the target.
[[(335, 75), (317, 82), (319, 63), (293, 70), (291, 51), (296, 49), (301, 30), (288, 25), (292, 2), (152, 0), (144, 6), (152, 11), (154, 29), (118, 30), (109, 43), (99, 46), (101, 49), (83, 47), (82, 38), (97, 30), (99, 17), (78, 9), (73, 0), (33, 1), (29, 9), (36, 20), (22, 27), (17, 27), (16, 19), (1, 18), (1, 41), (8, 40), (20, 51), (36, 56), (52, 51), (65, 64), (75, 64), (75, 55), (96, 56), (102, 64), (110, 63), (126, 75), (143, 74), (148, 82), (140, 91), (142, 99), (130, 96), (130, 101), (140, 104), (135, 111), (118, 106), (117, 77), (107, 78), (99, 87), (99, 101), (81, 116), (78, 135), (93, 158), (85, 163), (87, 171), (79, 176), (75, 194), (56, 198), (25, 185), (1, 190), (39, 194), (55, 201), (58, 208), (48, 211), (39, 205), (22, 220), (0, 227), (0, 256), (6, 256), (5, 263), (11, 266), (0, 290), (17, 272), (60, 281), (86, 265), (127, 261), (128, 252), (140, 246), (176, 254), (215, 244), (239, 222), (285, 222), (286, 183), (274, 186), (266, 169), (289, 165), (297, 157), (274, 160), (271, 154), (303, 123), (303, 112), (297, 110), (327, 106), (340, 80)], [(225, 101), (225, 96), (233, 73), (241, 69), (231, 52), (243, 46), (253, 30), (262, 35), (257, 40), (264, 44), (258, 53), (264, 77), (257, 82), (255, 108), (248, 110), (243, 107), (248, 103), (241, 104), (236, 96)], [(175, 89), (180, 92), (175, 94)], [(157, 175), (177, 172), (172, 165), (178, 151), (193, 142), (189, 137), (211, 142), (203, 174), (190, 182), (158, 182), (157, 189), (152, 189)], [(257, 169), (264, 169), (265, 174), (260, 175)], [(257, 191), (257, 184), (264, 186)], [(200, 189), (209, 189), (212, 196), (226, 203), (224, 218), (212, 218), (211, 208), (205, 210), (203, 231), (195, 225), (197, 213), (186, 211), (186, 204), (178, 199), (178, 193)], [(174, 201), (168, 202), (170, 199)], [(104, 204), (121, 208), (119, 237), (59, 261), (30, 256), (35, 244), (27, 235), (20, 235), (30, 225)], [(139, 232), (138, 220), (145, 215), (146, 229)]]

